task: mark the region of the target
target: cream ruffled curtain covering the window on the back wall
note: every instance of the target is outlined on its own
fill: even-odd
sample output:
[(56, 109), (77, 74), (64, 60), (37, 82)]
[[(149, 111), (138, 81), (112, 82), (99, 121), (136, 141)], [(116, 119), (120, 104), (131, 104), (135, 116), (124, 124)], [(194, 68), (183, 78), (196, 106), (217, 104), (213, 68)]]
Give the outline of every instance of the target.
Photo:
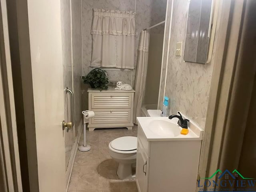
[(91, 34), (91, 66), (134, 69), (134, 12), (94, 9)]

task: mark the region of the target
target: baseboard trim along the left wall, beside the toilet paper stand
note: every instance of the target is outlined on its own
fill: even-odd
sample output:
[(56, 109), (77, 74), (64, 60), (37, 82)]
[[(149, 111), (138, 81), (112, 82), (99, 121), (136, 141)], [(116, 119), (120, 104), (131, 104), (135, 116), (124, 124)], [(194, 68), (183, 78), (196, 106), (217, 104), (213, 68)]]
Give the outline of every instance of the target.
[(78, 143), (79, 143), (79, 139), (81, 137), (82, 130), (83, 130), (82, 128), (83, 128), (83, 119), (80, 120), (79, 125), (78, 125), (78, 133), (77, 133), (75, 141), (74, 141), (74, 145), (73, 145), (72, 152), (70, 155), (70, 162), (68, 164), (68, 168), (66, 171), (66, 192), (68, 192), (70, 178), (71, 178), (72, 170), (73, 170), (74, 163), (75, 163), (76, 152), (78, 149)]

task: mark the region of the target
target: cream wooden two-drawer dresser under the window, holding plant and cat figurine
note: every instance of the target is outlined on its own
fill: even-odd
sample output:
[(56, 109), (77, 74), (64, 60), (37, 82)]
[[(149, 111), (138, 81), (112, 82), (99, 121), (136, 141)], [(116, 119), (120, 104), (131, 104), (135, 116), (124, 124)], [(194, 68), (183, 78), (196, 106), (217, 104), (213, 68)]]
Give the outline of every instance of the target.
[(108, 90), (88, 88), (89, 110), (94, 118), (89, 119), (89, 131), (95, 128), (126, 127), (132, 129), (134, 90)]

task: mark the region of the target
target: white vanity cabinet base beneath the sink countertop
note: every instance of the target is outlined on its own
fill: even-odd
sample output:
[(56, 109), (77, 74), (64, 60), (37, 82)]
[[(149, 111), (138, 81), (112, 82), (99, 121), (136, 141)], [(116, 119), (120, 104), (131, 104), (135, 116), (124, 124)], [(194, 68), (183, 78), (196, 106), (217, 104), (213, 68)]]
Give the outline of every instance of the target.
[[(202, 134), (183, 140), (149, 138), (138, 118), (136, 184), (139, 192), (192, 192), (196, 190)], [(190, 130), (191, 134), (192, 131)], [(194, 134), (196, 136), (196, 134)], [(185, 137), (184, 137), (185, 138)]]

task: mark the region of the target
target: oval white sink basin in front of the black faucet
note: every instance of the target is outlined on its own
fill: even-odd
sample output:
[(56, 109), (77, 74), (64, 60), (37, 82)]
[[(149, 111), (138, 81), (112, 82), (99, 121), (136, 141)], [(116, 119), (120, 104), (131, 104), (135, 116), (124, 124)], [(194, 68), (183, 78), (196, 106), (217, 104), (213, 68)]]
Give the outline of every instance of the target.
[(148, 127), (150, 131), (159, 136), (176, 137), (180, 135), (180, 128), (177, 123), (174, 124), (167, 120), (152, 120)]

